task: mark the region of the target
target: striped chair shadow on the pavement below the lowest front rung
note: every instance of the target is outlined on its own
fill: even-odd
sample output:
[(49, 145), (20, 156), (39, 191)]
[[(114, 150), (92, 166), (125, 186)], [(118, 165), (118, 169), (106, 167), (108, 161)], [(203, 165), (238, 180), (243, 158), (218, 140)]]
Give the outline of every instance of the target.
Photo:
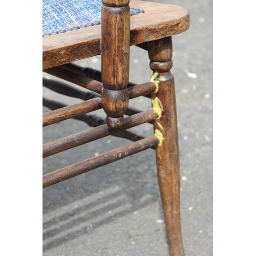
[[(102, 225), (133, 214), (133, 212), (139, 211), (157, 201), (161, 203), (157, 175), (155, 170), (153, 171), (156, 166), (151, 166), (150, 169), (145, 168), (145, 162), (148, 162), (148, 159), (152, 159), (152, 153), (154, 154), (151, 150), (145, 151), (144, 154), (142, 153), (143, 161), (141, 153), (119, 161), (119, 166), (125, 166), (120, 171), (113, 170), (112, 166), (116, 163), (104, 166), (104, 172), (102, 172), (103, 167), (99, 168), (100, 170), (94, 170), (94, 173), (90, 173), (91, 177), (89, 177), (89, 179), (93, 178), (93, 182), (90, 184), (91, 191), (85, 191), (84, 195), (86, 197), (80, 197), (78, 200), (74, 200), (75, 196), (73, 200), (70, 197), (66, 200), (65, 196), (63, 196), (61, 203), (59, 199), (50, 199), (51, 189), (56, 190), (56, 188), (54, 186), (49, 187), (46, 193), (49, 193), (48, 199), (53, 200), (53, 203), (50, 207), (47, 207), (49, 211), (46, 212), (44, 217), (43, 252), (62, 245), (67, 240), (77, 239), (84, 233), (90, 234)], [(131, 161), (131, 158), (136, 159)], [(124, 162), (126, 164), (123, 164)], [(129, 170), (127, 170), (130, 162), (137, 162), (137, 170), (140, 169), (140, 171), (136, 172), (134, 166), (130, 166)], [(109, 176), (106, 175), (106, 173), (109, 174), (108, 169), (111, 170)], [(127, 172), (131, 175), (127, 176)], [(80, 178), (84, 179), (85, 175)], [(118, 183), (115, 179), (117, 175)], [(101, 178), (98, 178), (99, 176)], [(70, 182), (75, 182), (75, 179), (78, 180), (79, 176), (71, 179)], [(99, 179), (104, 183), (103, 186), (106, 187), (100, 192), (95, 188), (96, 184), (93, 184)], [(60, 188), (58, 189), (59, 194), (66, 193), (67, 182), (56, 184)], [(100, 182), (97, 187), (100, 188)], [(47, 196), (45, 198), (45, 203), (47, 203)], [(58, 201), (57, 207), (54, 201)], [(159, 208), (161, 211), (161, 207)]]

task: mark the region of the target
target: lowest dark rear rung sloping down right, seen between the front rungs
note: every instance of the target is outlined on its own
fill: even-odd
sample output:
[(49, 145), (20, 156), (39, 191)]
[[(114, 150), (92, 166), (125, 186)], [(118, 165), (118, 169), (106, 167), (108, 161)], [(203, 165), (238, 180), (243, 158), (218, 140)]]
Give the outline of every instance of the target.
[[(57, 102), (54, 100), (48, 100), (45, 98), (42, 99), (42, 104), (51, 110), (65, 108), (67, 106), (61, 102)], [(93, 126), (93, 127), (97, 127), (99, 125), (103, 125), (106, 123), (105, 119), (98, 117), (96, 115), (83, 114), (83, 115), (76, 116), (73, 118), (83, 121), (83, 122), (86, 122), (89, 126)], [(129, 139), (132, 141), (138, 141), (138, 140), (142, 140), (145, 138), (145, 137), (141, 136), (140, 134), (131, 132), (129, 130), (120, 131), (118, 133), (112, 134), (112, 136)]]

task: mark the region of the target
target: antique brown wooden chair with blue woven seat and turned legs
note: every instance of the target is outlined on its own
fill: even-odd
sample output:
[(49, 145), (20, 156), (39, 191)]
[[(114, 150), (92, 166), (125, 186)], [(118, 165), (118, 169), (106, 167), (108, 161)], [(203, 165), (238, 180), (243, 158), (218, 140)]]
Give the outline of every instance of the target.
[[(102, 7), (101, 7), (102, 6)], [(131, 8), (130, 8), (131, 6)], [(94, 126), (43, 145), (43, 157), (99, 138), (116, 135), (134, 142), (43, 176), (43, 188), (124, 157), (155, 148), (158, 182), (171, 255), (184, 255), (180, 225), (180, 166), (176, 100), (172, 68), (172, 36), (189, 28), (182, 7), (139, 0), (43, 0), (43, 71), (65, 82), (43, 79), (43, 86), (82, 103), (65, 105), (44, 99), (52, 111), (43, 126), (75, 118)], [(149, 82), (129, 82), (130, 46), (147, 50), (153, 75)], [(101, 72), (81, 68), (76, 60), (101, 54)], [(140, 111), (129, 99), (151, 97), (152, 109)], [(87, 113), (103, 108), (105, 120)], [(124, 115), (127, 117), (124, 118)], [(154, 135), (144, 138), (127, 129), (151, 122)]]

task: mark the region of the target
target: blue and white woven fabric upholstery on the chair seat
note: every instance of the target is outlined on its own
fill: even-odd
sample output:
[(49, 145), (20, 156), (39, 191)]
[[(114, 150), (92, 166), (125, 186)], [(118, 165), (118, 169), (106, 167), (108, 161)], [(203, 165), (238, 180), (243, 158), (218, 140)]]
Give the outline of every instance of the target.
[(101, 19), (101, 0), (43, 0), (42, 33)]

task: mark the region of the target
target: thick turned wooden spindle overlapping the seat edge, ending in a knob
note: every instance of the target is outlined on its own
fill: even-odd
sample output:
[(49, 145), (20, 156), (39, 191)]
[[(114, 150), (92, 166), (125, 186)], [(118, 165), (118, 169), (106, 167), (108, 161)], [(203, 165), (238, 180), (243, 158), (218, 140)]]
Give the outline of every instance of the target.
[(102, 0), (101, 79), (106, 124), (123, 125), (129, 104), (130, 0)]

